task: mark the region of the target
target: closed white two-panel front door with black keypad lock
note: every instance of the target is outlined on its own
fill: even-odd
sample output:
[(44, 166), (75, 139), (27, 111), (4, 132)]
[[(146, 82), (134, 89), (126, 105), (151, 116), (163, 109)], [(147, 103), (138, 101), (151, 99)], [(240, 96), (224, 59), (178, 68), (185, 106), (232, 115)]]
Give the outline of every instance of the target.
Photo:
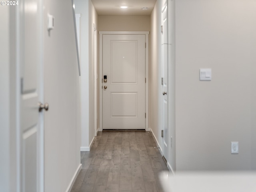
[(145, 129), (145, 50), (143, 34), (103, 35), (103, 129)]

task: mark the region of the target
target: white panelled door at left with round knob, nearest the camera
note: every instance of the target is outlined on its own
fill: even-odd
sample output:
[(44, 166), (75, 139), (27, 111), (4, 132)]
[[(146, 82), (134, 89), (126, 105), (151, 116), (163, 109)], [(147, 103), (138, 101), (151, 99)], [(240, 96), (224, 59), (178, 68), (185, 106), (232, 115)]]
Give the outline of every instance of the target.
[[(20, 6), (20, 184), (22, 192), (39, 190), (40, 16), (37, 0)], [(23, 9), (22, 9), (23, 8)]]

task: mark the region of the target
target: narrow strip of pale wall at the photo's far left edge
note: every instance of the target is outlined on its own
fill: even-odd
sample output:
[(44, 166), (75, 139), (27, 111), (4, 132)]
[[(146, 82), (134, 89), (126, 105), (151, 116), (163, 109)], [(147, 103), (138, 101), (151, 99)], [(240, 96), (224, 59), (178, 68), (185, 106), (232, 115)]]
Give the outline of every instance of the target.
[(10, 42), (9, 12), (6, 6), (0, 7), (0, 190), (10, 190)]

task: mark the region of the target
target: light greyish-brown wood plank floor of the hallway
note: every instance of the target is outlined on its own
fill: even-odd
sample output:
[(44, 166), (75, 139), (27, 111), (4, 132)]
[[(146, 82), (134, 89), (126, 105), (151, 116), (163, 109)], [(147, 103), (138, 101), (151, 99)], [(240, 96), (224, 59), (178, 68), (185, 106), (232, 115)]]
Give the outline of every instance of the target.
[(71, 192), (162, 192), (158, 173), (168, 170), (152, 133), (98, 132)]

